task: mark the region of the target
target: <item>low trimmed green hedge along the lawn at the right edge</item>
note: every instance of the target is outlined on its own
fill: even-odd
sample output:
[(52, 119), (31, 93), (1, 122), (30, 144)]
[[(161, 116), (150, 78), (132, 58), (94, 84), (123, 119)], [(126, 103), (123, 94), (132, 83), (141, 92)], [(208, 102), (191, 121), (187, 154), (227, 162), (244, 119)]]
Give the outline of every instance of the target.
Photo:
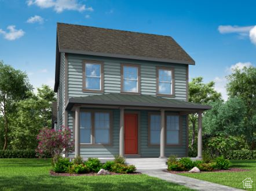
[(235, 159), (235, 160), (252, 160), (256, 159), (256, 150), (230, 150), (226, 152), (224, 155), (225, 159)]

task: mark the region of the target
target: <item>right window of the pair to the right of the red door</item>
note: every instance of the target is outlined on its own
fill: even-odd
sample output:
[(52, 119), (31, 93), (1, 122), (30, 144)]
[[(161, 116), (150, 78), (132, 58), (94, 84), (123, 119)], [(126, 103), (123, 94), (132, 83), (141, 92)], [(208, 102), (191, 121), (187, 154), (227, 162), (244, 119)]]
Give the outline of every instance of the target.
[(180, 117), (176, 115), (166, 116), (166, 144), (179, 144), (180, 142)]

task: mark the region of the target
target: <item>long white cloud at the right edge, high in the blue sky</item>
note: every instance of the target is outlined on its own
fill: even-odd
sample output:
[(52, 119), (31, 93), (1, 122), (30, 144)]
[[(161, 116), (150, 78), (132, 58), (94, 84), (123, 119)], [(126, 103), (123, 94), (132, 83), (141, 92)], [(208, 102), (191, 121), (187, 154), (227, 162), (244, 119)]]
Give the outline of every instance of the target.
[(221, 34), (236, 33), (239, 34), (239, 39), (249, 36), (252, 43), (256, 45), (256, 25), (239, 27), (237, 25), (220, 25), (218, 31)]

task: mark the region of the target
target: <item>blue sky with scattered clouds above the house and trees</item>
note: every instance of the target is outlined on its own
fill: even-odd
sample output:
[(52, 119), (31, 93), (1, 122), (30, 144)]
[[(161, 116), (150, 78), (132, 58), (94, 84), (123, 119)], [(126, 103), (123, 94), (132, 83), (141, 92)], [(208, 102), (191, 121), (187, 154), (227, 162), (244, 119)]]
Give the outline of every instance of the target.
[(0, 0), (0, 60), (54, 86), (56, 23), (169, 35), (195, 60), (189, 79), (215, 82), (256, 65), (256, 1)]

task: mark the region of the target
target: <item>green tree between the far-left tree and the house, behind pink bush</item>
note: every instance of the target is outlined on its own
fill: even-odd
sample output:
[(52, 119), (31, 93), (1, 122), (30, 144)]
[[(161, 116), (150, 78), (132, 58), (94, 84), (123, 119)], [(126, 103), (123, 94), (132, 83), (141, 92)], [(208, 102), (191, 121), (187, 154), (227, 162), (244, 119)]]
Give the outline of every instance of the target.
[(38, 145), (36, 135), (43, 127), (51, 126), (52, 102), (55, 93), (43, 85), (38, 93), (30, 93), (29, 98), (17, 102), (17, 113), (13, 117), (10, 132), (10, 145), (13, 149), (35, 149)]

